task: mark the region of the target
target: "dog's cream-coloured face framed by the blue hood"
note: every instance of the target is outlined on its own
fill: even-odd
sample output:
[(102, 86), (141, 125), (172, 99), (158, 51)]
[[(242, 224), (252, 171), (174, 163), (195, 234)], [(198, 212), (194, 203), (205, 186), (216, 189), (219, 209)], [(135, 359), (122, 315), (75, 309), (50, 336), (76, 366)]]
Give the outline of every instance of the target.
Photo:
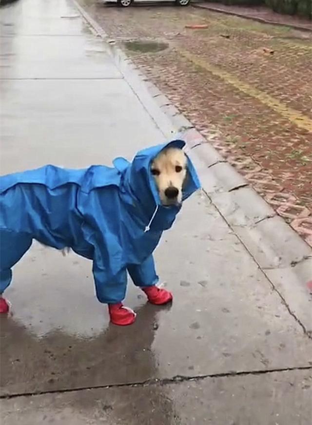
[(176, 205), (182, 202), (182, 187), (187, 173), (187, 158), (178, 148), (161, 151), (152, 161), (151, 173), (162, 205)]

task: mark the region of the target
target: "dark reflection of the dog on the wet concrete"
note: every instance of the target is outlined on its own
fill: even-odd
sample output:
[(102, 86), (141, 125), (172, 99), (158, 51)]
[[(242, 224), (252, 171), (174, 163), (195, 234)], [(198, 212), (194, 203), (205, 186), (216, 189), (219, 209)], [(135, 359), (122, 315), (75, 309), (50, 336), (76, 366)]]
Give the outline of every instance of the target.
[[(144, 424), (177, 424), (172, 402), (161, 385), (93, 390), (96, 392), (92, 397), (82, 392), (82, 388), (155, 382), (159, 373), (152, 344), (158, 312), (155, 306), (146, 304), (138, 310), (134, 325), (110, 325), (94, 338), (78, 338), (56, 330), (38, 338), (14, 317), (4, 318), (0, 329), (1, 394), (80, 388), (66, 405), (71, 407), (71, 418), (81, 409), (89, 410), (91, 417), (95, 412), (99, 415), (100, 406), (103, 416), (109, 411), (111, 417), (127, 424), (137, 420)], [(58, 402), (47, 406), (47, 421), (54, 416), (54, 408), (59, 409)]]

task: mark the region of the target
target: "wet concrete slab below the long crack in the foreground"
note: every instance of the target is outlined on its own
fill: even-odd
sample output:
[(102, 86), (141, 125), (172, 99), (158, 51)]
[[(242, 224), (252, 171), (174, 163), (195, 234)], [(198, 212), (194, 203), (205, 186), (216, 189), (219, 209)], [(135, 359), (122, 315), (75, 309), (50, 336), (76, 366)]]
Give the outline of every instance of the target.
[(304, 371), (287, 371), (20, 397), (6, 402), (4, 424), (308, 425), (311, 385)]

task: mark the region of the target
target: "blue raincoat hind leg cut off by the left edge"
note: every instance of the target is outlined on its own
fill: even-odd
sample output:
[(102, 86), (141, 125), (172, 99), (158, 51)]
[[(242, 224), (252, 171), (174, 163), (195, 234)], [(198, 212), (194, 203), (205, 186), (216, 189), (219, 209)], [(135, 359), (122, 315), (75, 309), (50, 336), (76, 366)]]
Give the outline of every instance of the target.
[(0, 294), (11, 283), (11, 268), (29, 250), (31, 244), (32, 238), (28, 234), (0, 228)]

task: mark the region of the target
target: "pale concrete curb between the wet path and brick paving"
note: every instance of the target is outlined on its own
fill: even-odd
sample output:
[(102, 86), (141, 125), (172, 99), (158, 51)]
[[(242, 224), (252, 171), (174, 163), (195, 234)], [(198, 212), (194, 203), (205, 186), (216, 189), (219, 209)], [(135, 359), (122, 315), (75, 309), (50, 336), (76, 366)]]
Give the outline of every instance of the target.
[(249, 186), (193, 124), (137, 70), (87, 12), (72, 0), (97, 37), (111, 46), (115, 63), (166, 139), (182, 133), (202, 189), (253, 257), (304, 333), (312, 338), (312, 249)]

